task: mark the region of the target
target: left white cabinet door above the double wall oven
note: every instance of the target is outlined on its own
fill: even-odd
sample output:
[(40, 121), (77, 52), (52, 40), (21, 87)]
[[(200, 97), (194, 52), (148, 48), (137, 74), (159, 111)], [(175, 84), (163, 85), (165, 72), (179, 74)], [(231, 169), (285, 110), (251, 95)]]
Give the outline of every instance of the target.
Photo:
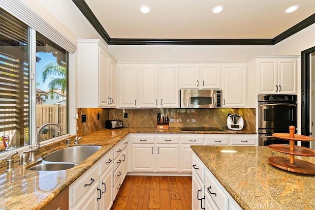
[(258, 84), (260, 93), (277, 93), (278, 62), (277, 60), (258, 60)]

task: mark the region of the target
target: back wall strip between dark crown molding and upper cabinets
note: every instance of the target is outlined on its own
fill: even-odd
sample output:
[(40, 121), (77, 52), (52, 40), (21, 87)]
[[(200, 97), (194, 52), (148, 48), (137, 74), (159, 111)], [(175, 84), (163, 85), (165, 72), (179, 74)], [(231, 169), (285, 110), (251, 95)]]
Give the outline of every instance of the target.
[(270, 55), (273, 46), (109, 45), (120, 61), (246, 61)]

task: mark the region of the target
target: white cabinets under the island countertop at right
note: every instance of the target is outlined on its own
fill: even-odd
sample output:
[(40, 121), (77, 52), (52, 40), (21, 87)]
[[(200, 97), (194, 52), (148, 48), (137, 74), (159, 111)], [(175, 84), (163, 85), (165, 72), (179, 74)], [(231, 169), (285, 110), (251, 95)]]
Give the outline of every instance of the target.
[(242, 210), (194, 153), (192, 162), (194, 163), (191, 194), (193, 210)]

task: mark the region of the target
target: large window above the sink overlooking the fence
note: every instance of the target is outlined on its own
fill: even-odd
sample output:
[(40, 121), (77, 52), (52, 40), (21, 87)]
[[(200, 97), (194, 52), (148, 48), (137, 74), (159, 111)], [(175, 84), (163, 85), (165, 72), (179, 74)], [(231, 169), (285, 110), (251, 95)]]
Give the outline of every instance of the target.
[(66, 99), (63, 105), (44, 100), (53, 91), (66, 95), (67, 51), (1, 8), (0, 31), (0, 152), (32, 145), (36, 128), (47, 122), (59, 123), (62, 132), (45, 126), (41, 141), (68, 133)]

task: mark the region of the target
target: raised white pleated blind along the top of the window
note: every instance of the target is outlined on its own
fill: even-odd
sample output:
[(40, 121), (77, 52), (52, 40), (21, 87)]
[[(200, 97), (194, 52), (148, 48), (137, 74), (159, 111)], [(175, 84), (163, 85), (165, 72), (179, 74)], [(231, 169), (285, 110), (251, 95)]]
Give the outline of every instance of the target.
[(60, 31), (56, 30), (47, 21), (33, 12), (32, 9), (26, 6), (23, 2), (19, 0), (0, 0), (0, 7), (30, 26), (32, 29), (54, 41), (69, 53), (74, 53), (76, 51), (76, 43), (70, 41)]

